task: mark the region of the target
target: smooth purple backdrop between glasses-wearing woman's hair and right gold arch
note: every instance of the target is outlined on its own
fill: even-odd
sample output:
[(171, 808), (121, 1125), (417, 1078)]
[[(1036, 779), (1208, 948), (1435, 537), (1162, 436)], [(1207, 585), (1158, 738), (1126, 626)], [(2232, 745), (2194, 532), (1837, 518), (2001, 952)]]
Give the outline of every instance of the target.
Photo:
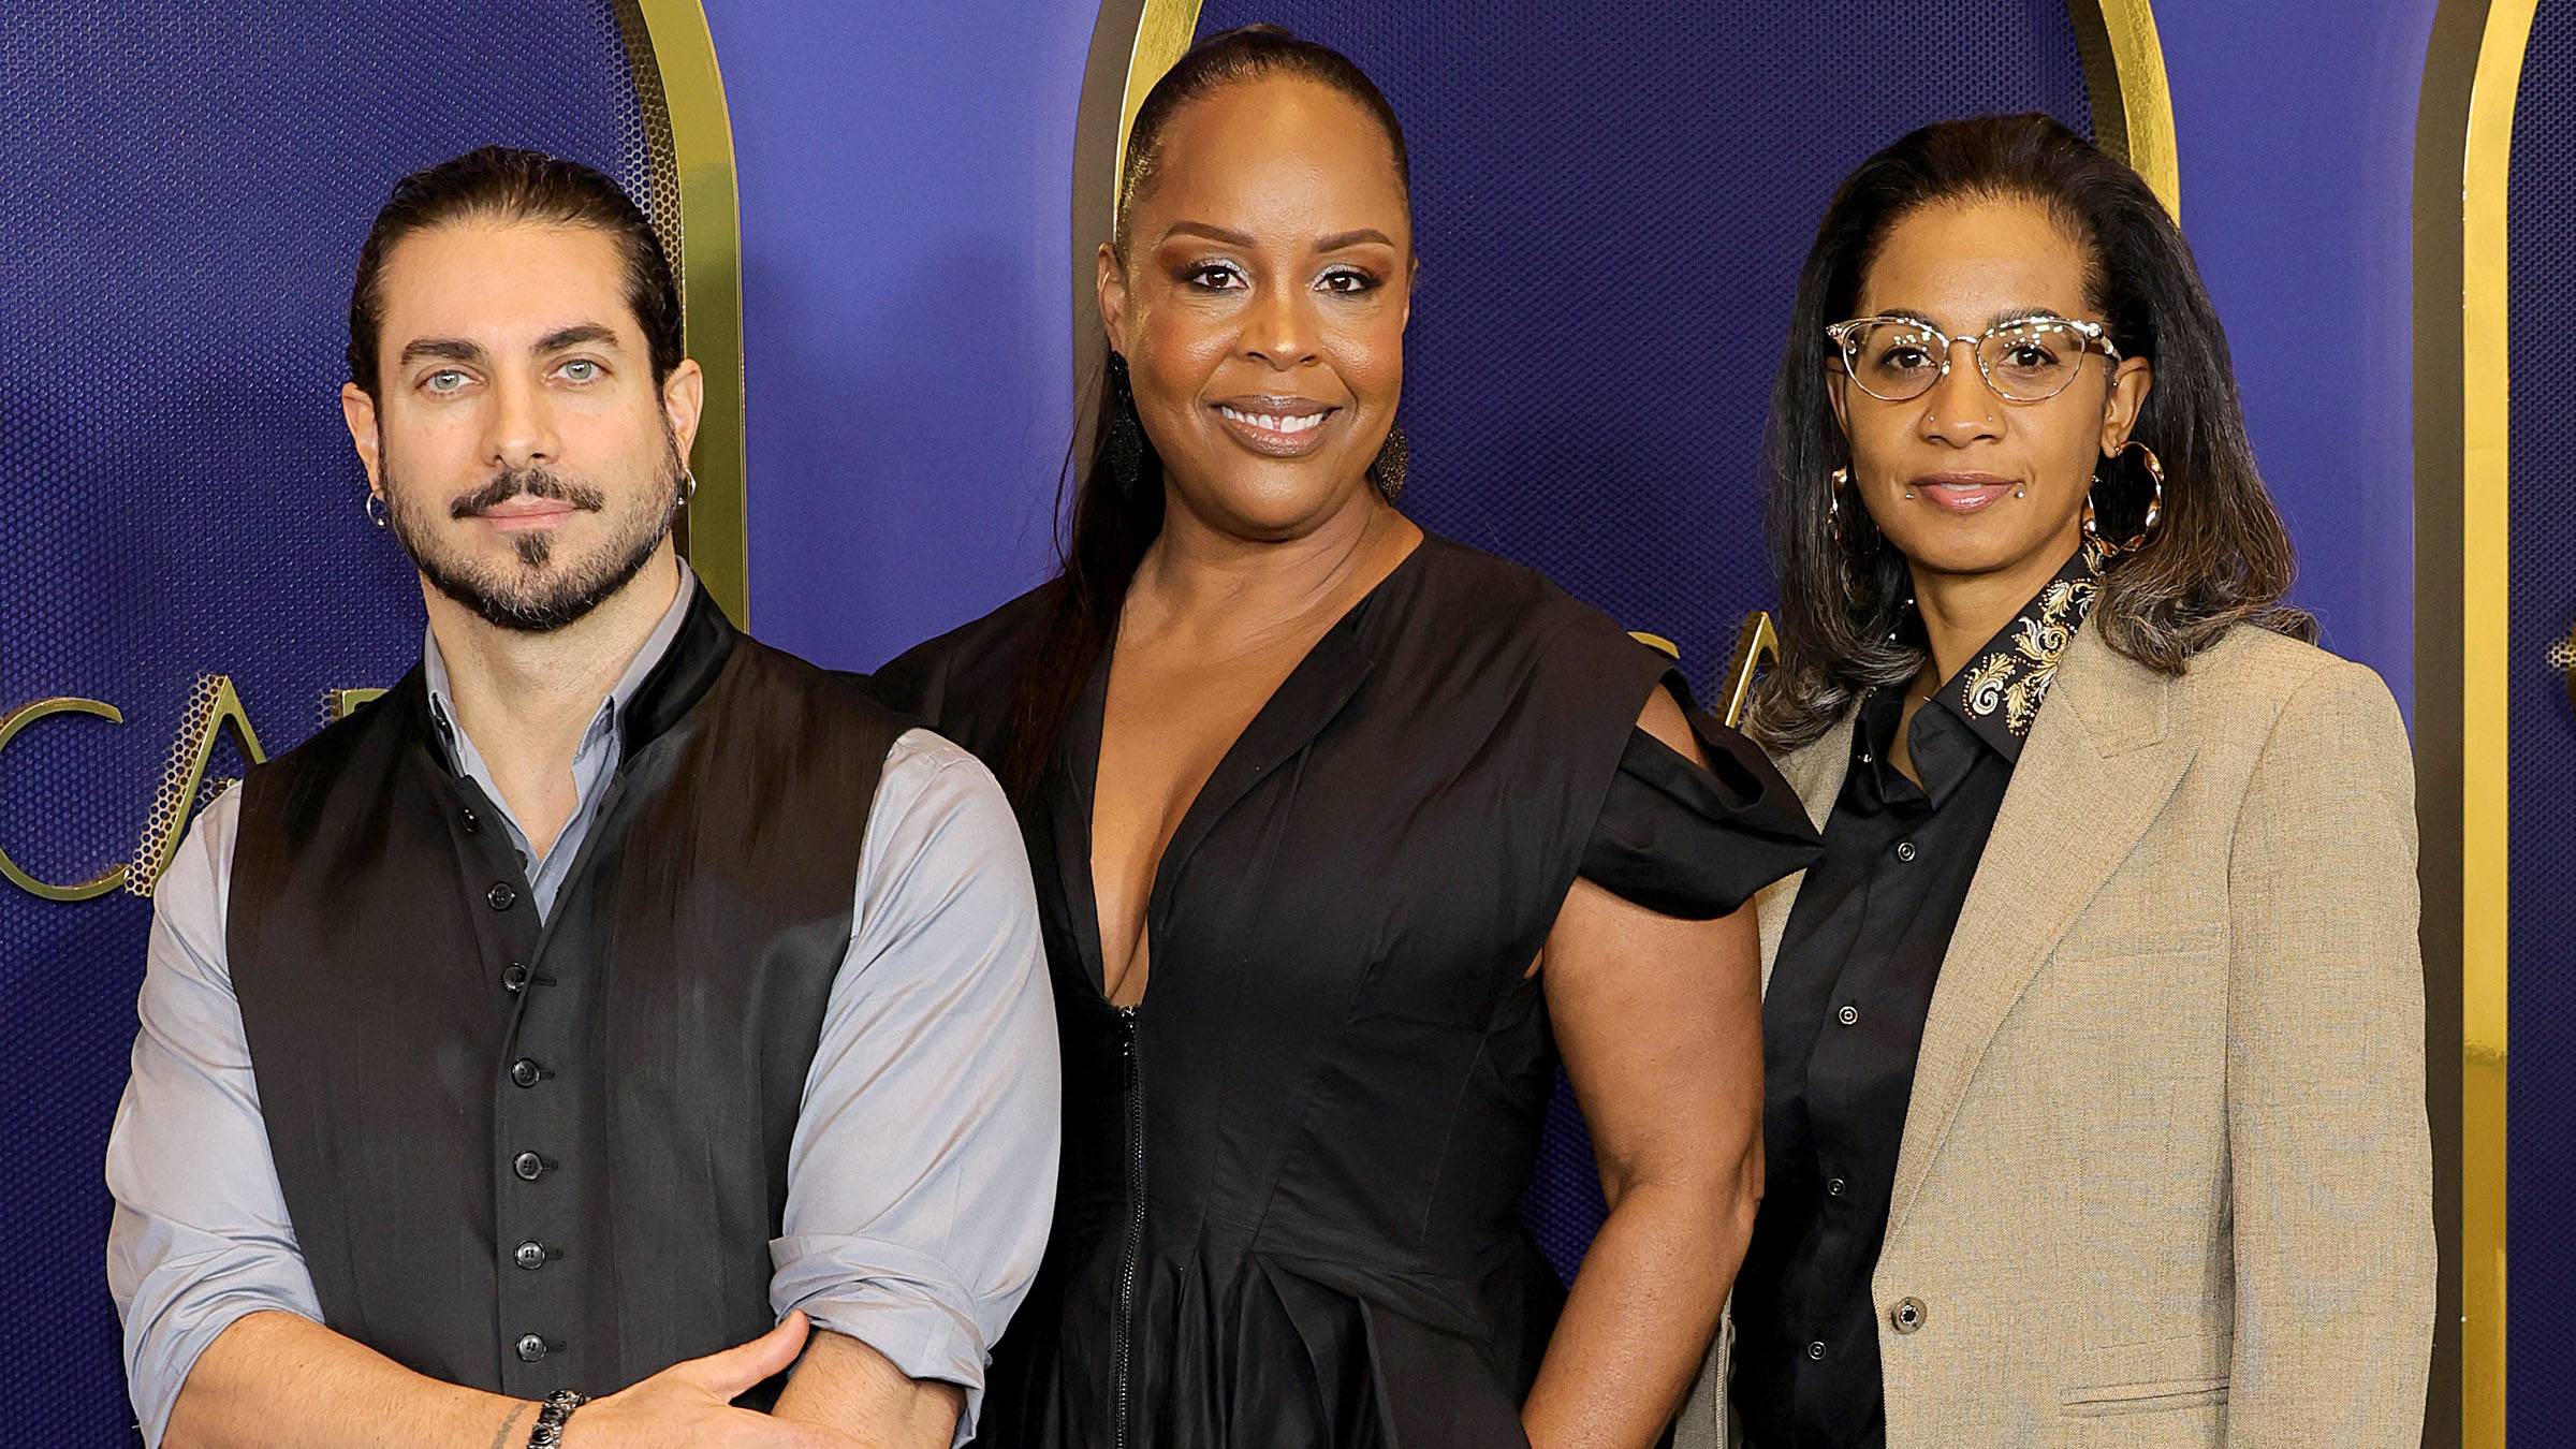
[(2414, 126), (2434, 0), (2156, 0), (2182, 232), (2326, 647), (2414, 712)]

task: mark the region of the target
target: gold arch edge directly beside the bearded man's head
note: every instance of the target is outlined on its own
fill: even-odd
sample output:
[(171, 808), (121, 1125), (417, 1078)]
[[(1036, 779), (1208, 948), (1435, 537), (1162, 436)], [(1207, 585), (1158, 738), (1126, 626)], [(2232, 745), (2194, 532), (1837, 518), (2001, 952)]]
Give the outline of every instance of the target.
[[(680, 547), (734, 624), (750, 624), (750, 469), (742, 405), (742, 209), (734, 186), (734, 121), (724, 106), (716, 39), (698, 0), (618, 5), (657, 150), (654, 227), (680, 268), (688, 356), (706, 369), (706, 415), (690, 469), (698, 495)], [(665, 188), (677, 191), (677, 204)]]

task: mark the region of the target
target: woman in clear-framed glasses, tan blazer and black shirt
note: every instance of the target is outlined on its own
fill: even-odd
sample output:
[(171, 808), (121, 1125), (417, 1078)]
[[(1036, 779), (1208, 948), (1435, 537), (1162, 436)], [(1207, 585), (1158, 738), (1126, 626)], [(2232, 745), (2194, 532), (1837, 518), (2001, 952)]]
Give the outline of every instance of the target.
[(2416, 1444), (2434, 1310), (2406, 730), (2154, 193), (2043, 116), (1834, 196), (1772, 397), (1824, 822), (1759, 902), (1744, 1441)]

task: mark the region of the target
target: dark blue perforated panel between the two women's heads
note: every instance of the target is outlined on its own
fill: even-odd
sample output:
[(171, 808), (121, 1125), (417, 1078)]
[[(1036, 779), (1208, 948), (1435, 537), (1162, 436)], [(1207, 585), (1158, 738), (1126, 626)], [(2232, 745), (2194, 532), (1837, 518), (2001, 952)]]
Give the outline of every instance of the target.
[[(1198, 34), (1249, 21), (1350, 54), (1404, 121), (1404, 508), (1677, 639), (1703, 699), (1772, 593), (1762, 410), (1834, 186), (1945, 116), (2092, 134), (2063, 0), (1208, 0)], [(1571, 1274), (1602, 1201), (1564, 1088), (1525, 1209)]]

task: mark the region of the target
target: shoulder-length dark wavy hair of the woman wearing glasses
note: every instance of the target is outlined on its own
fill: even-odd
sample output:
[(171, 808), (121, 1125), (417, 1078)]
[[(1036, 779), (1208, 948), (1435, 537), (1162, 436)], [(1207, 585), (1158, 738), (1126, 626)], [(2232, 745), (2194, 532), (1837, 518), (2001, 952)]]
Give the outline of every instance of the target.
[[(1824, 330), (1852, 315), (1896, 222), (1958, 199), (2045, 206), (2084, 242), (2084, 294), (2120, 356), (2156, 366), (2130, 438), (2164, 462), (2164, 518), (2143, 547), (2112, 559), (2087, 627), (2166, 676), (2236, 624), (2316, 639), (2316, 619), (2282, 603), (2295, 567), (2290, 534), (2254, 467), (2218, 312), (2164, 204), (2136, 170), (2048, 116), (1940, 121), (1860, 162), (1824, 209), (1798, 273), (1765, 438), (1780, 660), (1747, 717), (1765, 745), (1806, 745), (1862, 691), (1922, 668), (1922, 642), (1904, 629), (1904, 554), (1865, 516), (1842, 518), (1842, 539), (1834, 534), (1832, 477), (1852, 454), (1826, 392), (1839, 356)], [(2094, 487), (2105, 536), (2138, 531), (2148, 487), (2143, 469), (2105, 469)]]

